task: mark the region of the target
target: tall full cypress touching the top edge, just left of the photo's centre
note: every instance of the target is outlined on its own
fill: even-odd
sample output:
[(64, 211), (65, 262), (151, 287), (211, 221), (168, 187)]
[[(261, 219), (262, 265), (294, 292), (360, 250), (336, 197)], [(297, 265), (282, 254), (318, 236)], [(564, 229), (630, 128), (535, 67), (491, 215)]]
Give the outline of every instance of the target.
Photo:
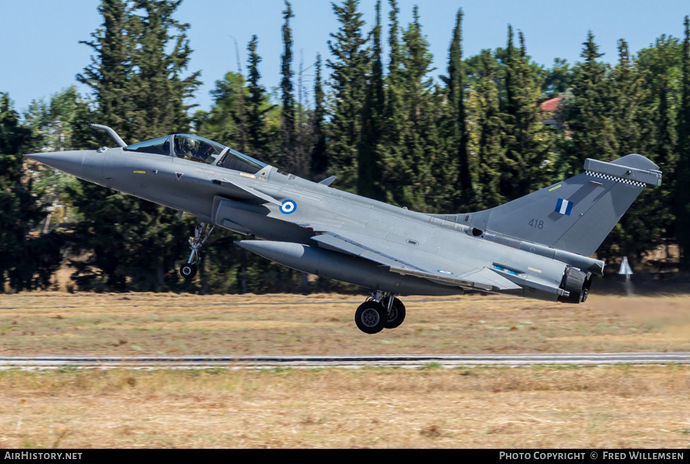
[(331, 174), (338, 176), (338, 185), (346, 191), (357, 186), (357, 148), (362, 137), (362, 106), (365, 95), (366, 37), (362, 34), (364, 21), (357, 11), (359, 0), (333, 3), (333, 11), (340, 24), (331, 34), (328, 49), (334, 59), (326, 63), (331, 68), (331, 124), (328, 139), (328, 164)]

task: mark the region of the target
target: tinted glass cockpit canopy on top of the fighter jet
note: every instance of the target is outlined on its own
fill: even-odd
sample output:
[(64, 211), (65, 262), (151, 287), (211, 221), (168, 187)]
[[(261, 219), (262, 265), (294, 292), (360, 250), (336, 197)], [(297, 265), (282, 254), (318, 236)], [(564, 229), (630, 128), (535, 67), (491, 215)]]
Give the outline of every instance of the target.
[(255, 174), (268, 166), (253, 157), (239, 153), (213, 140), (190, 134), (175, 134), (159, 139), (139, 142), (123, 148), (124, 151), (152, 153), (153, 155), (175, 155), (183, 160), (204, 164), (215, 164), (221, 168)]

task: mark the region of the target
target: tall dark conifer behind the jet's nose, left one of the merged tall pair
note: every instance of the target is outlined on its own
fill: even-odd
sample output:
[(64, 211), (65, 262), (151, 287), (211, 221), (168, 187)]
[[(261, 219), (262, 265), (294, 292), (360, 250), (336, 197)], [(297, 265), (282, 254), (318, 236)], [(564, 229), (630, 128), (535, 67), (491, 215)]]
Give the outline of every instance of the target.
[[(77, 75), (77, 80), (91, 88), (91, 95), (96, 102), (95, 110), (83, 108), (81, 117), (86, 122), (95, 122), (110, 126), (124, 140), (133, 143), (137, 139), (136, 126), (128, 124), (135, 115), (135, 108), (130, 93), (132, 74), (132, 36), (130, 30), (130, 9), (124, 0), (102, 0), (99, 12), (103, 17), (101, 28), (92, 33), (95, 41), (82, 41), (92, 50), (91, 64)], [(89, 121), (91, 119), (91, 121)], [(112, 146), (112, 139), (101, 131), (86, 131), (82, 128), (75, 137), (75, 148), (96, 148)], [(77, 286), (81, 289), (95, 287), (124, 290), (126, 273), (118, 272), (127, 255), (121, 241), (124, 226), (115, 218), (130, 209), (132, 200), (124, 195), (103, 189), (88, 182), (68, 189), (70, 201), (74, 204), (83, 219), (75, 228), (77, 244), (83, 251), (92, 251), (85, 262), (74, 262), (77, 271), (72, 274)], [(75, 247), (79, 251), (80, 247)]]

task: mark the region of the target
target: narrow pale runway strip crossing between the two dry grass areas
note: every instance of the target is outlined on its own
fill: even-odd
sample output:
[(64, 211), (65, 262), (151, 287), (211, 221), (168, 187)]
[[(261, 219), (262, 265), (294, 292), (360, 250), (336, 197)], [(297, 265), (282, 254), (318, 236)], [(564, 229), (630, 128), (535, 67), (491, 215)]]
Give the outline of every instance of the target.
[(690, 353), (447, 354), (371, 356), (0, 356), (0, 369), (302, 369), (527, 365), (690, 365)]

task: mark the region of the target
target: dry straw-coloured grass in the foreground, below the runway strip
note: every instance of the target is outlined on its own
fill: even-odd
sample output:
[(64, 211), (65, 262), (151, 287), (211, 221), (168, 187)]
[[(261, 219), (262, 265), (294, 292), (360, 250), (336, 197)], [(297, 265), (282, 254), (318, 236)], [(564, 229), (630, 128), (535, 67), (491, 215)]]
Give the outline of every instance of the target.
[(680, 447), (688, 367), (0, 371), (0, 447)]

